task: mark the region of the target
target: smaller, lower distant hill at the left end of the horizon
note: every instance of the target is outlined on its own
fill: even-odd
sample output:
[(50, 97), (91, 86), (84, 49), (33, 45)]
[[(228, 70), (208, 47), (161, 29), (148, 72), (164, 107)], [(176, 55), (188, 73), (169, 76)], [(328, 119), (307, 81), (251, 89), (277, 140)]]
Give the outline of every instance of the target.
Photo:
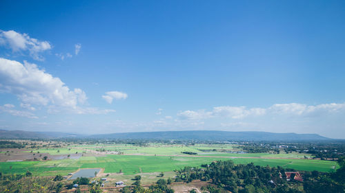
[(80, 135), (59, 132), (33, 132), (25, 130), (0, 130), (0, 139), (46, 139), (79, 137)]

